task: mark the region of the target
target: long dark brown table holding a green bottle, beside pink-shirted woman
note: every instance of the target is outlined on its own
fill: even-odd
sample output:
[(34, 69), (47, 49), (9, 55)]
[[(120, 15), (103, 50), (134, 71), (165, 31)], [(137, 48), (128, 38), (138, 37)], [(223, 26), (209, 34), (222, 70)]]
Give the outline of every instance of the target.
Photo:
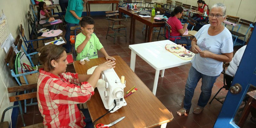
[[(119, 12), (123, 12), (127, 15), (131, 13), (130, 10), (128, 10), (126, 7), (119, 7)], [(131, 28), (132, 28), (132, 42), (135, 42), (135, 20), (138, 20), (146, 25), (146, 32), (145, 32), (145, 40), (147, 39), (147, 42), (151, 42), (152, 40), (152, 34), (153, 34), (153, 28), (155, 27), (164, 27), (164, 21), (163, 22), (156, 22), (154, 20), (154, 17), (140, 17), (137, 13), (132, 14), (131, 18)], [(131, 34), (131, 32), (130, 32)], [(148, 38), (147, 38), (148, 37)]]

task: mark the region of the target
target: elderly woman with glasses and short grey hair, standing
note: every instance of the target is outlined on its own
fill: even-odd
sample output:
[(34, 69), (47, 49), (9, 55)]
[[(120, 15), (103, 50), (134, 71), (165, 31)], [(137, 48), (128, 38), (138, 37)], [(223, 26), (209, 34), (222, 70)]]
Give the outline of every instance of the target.
[(196, 85), (201, 78), (202, 92), (193, 113), (199, 114), (203, 111), (211, 97), (213, 84), (222, 71), (222, 62), (232, 60), (233, 41), (229, 30), (222, 25), (225, 19), (226, 6), (222, 3), (212, 5), (210, 24), (204, 25), (191, 42), (191, 50), (196, 55), (191, 60), (185, 86), (184, 107), (177, 111), (180, 116), (189, 112)]

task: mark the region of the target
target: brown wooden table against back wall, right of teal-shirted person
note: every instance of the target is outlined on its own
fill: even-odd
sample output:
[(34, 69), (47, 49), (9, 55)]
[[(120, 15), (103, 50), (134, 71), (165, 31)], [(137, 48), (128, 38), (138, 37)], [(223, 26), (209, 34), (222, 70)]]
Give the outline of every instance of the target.
[[(116, 10), (117, 10), (119, 1), (120, 0), (88, 0), (86, 3), (87, 16), (91, 16), (90, 4), (111, 4), (112, 3), (112, 11), (114, 11), (114, 4), (116, 3)], [(89, 12), (87, 9), (87, 4), (88, 4)]]

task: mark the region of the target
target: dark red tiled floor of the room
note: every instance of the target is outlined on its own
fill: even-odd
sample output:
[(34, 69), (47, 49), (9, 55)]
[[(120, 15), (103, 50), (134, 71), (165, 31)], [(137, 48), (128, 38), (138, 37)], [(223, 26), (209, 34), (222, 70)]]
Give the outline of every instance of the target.
[[(129, 32), (130, 32), (130, 21), (127, 20), (122, 21), (121, 23), (127, 26), (127, 42), (125, 42), (125, 37), (119, 37), (116, 39), (115, 44), (113, 43), (113, 38), (109, 37), (106, 39), (106, 34), (108, 30), (108, 21), (104, 16), (94, 16), (92, 17), (95, 20), (94, 32), (97, 37), (100, 39), (101, 44), (104, 46), (105, 50), (110, 56), (121, 56), (123, 60), (130, 66), (130, 57), (131, 50), (128, 48), (130, 44), (129, 40)], [(144, 24), (136, 21), (136, 35), (135, 35), (135, 44), (145, 43), (144, 41), (144, 33), (142, 33)], [(63, 28), (61, 28), (63, 29)], [(65, 29), (63, 29), (65, 31)], [(64, 32), (65, 33), (65, 32)], [(160, 36), (157, 40), (158, 32), (153, 33), (152, 41), (164, 40), (163, 36)], [(237, 51), (239, 47), (235, 47), (234, 51)], [(103, 57), (103, 55), (99, 52), (99, 57)], [(118, 62), (117, 62), (118, 63)], [(148, 86), (148, 88), (152, 91), (155, 70), (150, 65), (147, 64), (144, 60), (137, 56), (136, 65), (135, 65), (135, 73), (140, 79)], [(212, 128), (217, 116), (220, 112), (222, 104), (217, 100), (213, 100), (212, 104), (207, 104), (204, 111), (201, 114), (193, 114), (192, 111), (189, 112), (186, 116), (178, 116), (177, 111), (182, 107), (182, 101), (184, 99), (184, 89), (186, 80), (188, 77), (188, 71), (191, 64), (169, 68), (165, 70), (164, 77), (159, 77), (158, 87), (156, 92), (156, 97), (164, 104), (166, 108), (174, 117), (174, 120), (167, 123), (167, 128)], [(72, 69), (71, 69), (72, 71)], [(200, 95), (200, 86), (201, 82), (198, 83), (194, 97), (192, 99), (192, 107), (193, 109)], [(214, 94), (223, 86), (223, 76), (220, 75), (218, 77), (216, 83), (212, 88), (212, 97)], [(223, 96), (227, 93), (224, 89), (218, 94), (218, 96)], [(217, 96), (217, 97), (218, 97)], [(27, 125), (37, 124), (43, 122), (43, 118), (38, 111), (37, 105), (30, 106), (27, 108), (28, 112), (24, 115), (25, 122)], [(21, 118), (20, 115), (18, 117), (17, 127), (21, 127)], [(249, 118), (244, 125), (245, 128), (254, 127)], [(158, 126), (159, 127), (159, 126)], [(160, 127), (159, 127), (160, 128)]]

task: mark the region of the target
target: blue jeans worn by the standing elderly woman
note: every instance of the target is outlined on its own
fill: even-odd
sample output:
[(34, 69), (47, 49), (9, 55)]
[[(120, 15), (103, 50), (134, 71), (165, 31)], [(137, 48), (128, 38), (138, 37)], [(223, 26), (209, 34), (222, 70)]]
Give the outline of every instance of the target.
[(218, 76), (206, 76), (198, 72), (194, 67), (191, 66), (188, 73), (187, 83), (185, 85), (185, 98), (184, 98), (184, 108), (189, 110), (191, 107), (191, 100), (193, 98), (196, 85), (198, 81), (202, 78), (201, 94), (197, 106), (204, 107), (212, 94), (212, 87)]

